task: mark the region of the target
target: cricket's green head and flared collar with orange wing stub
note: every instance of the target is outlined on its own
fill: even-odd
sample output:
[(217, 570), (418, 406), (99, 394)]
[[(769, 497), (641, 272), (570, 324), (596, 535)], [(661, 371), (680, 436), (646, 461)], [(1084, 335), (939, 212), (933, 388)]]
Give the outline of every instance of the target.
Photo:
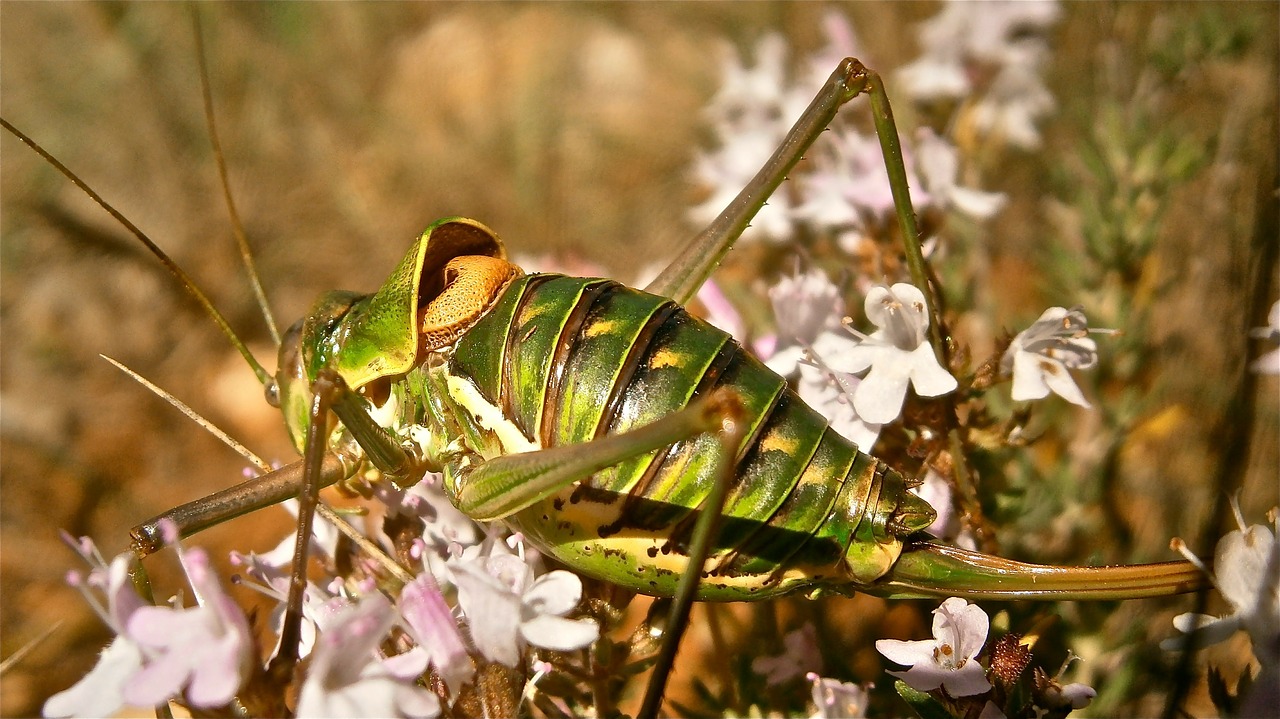
[(311, 384), (333, 367), (358, 390), (398, 377), (424, 352), (457, 340), (520, 274), (502, 241), (475, 220), (449, 217), (426, 228), (374, 294), (328, 292), (285, 334), (268, 399), (280, 407), (302, 450), (310, 423)]

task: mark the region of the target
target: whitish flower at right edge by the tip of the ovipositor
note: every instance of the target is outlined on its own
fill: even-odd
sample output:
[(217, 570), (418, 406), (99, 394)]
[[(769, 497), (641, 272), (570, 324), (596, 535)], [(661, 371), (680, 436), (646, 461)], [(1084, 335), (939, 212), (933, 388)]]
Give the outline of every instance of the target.
[[(1199, 646), (1217, 644), (1244, 629), (1262, 667), (1275, 668), (1280, 665), (1280, 544), (1275, 533), (1262, 525), (1245, 527), (1240, 505), (1234, 498), (1231, 510), (1239, 530), (1219, 540), (1213, 551), (1213, 572), (1210, 573), (1217, 591), (1231, 605), (1231, 613), (1221, 618), (1179, 614), (1174, 617), (1174, 627), (1194, 633)], [(1174, 546), (1189, 562), (1204, 568), (1181, 540), (1174, 540)], [(1180, 638), (1161, 644), (1165, 649), (1181, 645)]]

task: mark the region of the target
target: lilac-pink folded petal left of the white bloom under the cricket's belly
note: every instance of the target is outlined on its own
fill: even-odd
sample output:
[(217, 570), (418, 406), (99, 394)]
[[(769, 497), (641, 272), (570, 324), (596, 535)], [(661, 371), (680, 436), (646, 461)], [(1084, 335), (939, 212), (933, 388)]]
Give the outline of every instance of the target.
[(520, 596), (474, 562), (458, 562), (452, 571), (476, 647), (486, 659), (515, 667), (520, 661)]

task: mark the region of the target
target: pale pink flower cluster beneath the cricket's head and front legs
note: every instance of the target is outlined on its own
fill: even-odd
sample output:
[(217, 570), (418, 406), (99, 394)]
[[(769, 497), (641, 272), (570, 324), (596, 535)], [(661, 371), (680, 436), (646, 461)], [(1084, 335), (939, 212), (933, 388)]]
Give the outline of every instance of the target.
[[(370, 539), (392, 549), (397, 540), (388, 532), (412, 536), (410, 554), (420, 562), (419, 573), (394, 601), (380, 587), (375, 565), (387, 557), (366, 557), (362, 569), (357, 560), (356, 571), (339, 576), (337, 528), (317, 521), (314, 554), (332, 573), (308, 581), (305, 595), (298, 652), (308, 658), (308, 668), (298, 688), (300, 716), (435, 716), (442, 701), (458, 697), (472, 681), (476, 658), (515, 668), (526, 661), (529, 646), (567, 651), (598, 638), (593, 619), (564, 617), (581, 600), (581, 580), (563, 571), (536, 576), (535, 553), (525, 553), (518, 536), (486, 533), (458, 513), (440, 491), (439, 477), (378, 494), (387, 518)], [(131, 554), (108, 564), (88, 540), (73, 544), (95, 565), (87, 580), (73, 576), (73, 583), (118, 636), (90, 674), (45, 704), (46, 716), (106, 716), (123, 705), (172, 700), (218, 710), (237, 696), (243, 701), (250, 684), (268, 681), (248, 619), (223, 592), (209, 558), (183, 548), (175, 530), (168, 531), (195, 608), (177, 601), (147, 605), (129, 581)], [(270, 619), (276, 633), (292, 550), (291, 537), (266, 554), (232, 557), (246, 574), (239, 583), (282, 603)], [(90, 589), (106, 596), (105, 606)], [(424, 683), (429, 676), (438, 678), (434, 691)]]

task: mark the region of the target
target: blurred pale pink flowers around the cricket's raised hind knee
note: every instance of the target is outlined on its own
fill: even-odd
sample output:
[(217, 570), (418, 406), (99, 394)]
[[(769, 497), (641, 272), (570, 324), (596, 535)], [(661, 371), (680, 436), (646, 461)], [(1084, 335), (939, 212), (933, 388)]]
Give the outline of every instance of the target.
[[(730, 203), (781, 143), (831, 69), (842, 58), (859, 55), (858, 40), (842, 15), (828, 13), (823, 26), (827, 46), (794, 78), (788, 77), (787, 47), (781, 36), (759, 41), (751, 67), (744, 65), (736, 52), (724, 51), (723, 82), (707, 107), (719, 145), (694, 165), (696, 182), (710, 188), (705, 202), (690, 211), (694, 223), (710, 221)], [(1001, 207), (1002, 196), (960, 186), (959, 155), (936, 133), (922, 130), (916, 147), (908, 148), (906, 155), (918, 212), (954, 207), (986, 219)], [(836, 238), (847, 252), (856, 251), (893, 212), (879, 141), (874, 133), (840, 120), (808, 161), (769, 198), (744, 239), (787, 242), (817, 233)]]

